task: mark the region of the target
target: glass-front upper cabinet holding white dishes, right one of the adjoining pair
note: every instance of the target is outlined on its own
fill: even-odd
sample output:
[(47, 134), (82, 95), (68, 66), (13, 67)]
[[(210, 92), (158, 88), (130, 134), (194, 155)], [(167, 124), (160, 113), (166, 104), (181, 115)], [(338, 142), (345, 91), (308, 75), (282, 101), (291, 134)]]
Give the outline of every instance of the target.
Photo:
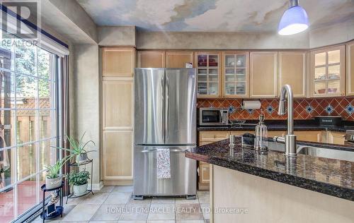
[(249, 97), (249, 53), (222, 53), (222, 95)]

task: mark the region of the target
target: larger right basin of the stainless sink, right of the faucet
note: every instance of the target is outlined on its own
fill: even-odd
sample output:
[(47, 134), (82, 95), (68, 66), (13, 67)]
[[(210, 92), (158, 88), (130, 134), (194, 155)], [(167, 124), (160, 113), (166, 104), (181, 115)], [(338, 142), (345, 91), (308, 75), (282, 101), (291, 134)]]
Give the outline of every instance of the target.
[(354, 152), (346, 150), (331, 150), (329, 148), (299, 146), (297, 148), (298, 154), (310, 155), (314, 157), (324, 157), (331, 159), (341, 159), (354, 162)]

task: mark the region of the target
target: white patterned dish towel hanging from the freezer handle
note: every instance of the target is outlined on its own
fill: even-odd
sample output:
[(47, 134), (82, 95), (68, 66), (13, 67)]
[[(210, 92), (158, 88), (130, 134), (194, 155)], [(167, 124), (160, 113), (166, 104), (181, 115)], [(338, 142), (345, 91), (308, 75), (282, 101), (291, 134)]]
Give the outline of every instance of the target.
[(171, 178), (170, 150), (158, 148), (156, 152), (157, 179)]

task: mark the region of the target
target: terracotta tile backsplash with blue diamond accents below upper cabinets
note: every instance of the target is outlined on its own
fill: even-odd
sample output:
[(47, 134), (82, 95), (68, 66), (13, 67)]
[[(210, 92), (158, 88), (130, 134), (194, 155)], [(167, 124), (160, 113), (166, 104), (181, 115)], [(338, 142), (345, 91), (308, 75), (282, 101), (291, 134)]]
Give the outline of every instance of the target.
[[(199, 99), (198, 107), (224, 107), (229, 109), (229, 119), (258, 119), (261, 110), (265, 119), (287, 119), (278, 115), (278, 99), (261, 100), (261, 109), (242, 110), (241, 99)], [(314, 116), (342, 116), (354, 121), (354, 97), (294, 100), (294, 119), (312, 119)]]

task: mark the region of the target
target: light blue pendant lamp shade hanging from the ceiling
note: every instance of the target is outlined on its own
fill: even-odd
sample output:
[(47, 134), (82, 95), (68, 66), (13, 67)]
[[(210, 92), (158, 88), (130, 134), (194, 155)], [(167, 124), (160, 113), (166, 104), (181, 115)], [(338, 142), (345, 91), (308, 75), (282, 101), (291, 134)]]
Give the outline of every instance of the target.
[(306, 11), (301, 6), (293, 6), (282, 14), (278, 33), (280, 35), (293, 35), (307, 28), (309, 28), (309, 18), (307, 18)]

